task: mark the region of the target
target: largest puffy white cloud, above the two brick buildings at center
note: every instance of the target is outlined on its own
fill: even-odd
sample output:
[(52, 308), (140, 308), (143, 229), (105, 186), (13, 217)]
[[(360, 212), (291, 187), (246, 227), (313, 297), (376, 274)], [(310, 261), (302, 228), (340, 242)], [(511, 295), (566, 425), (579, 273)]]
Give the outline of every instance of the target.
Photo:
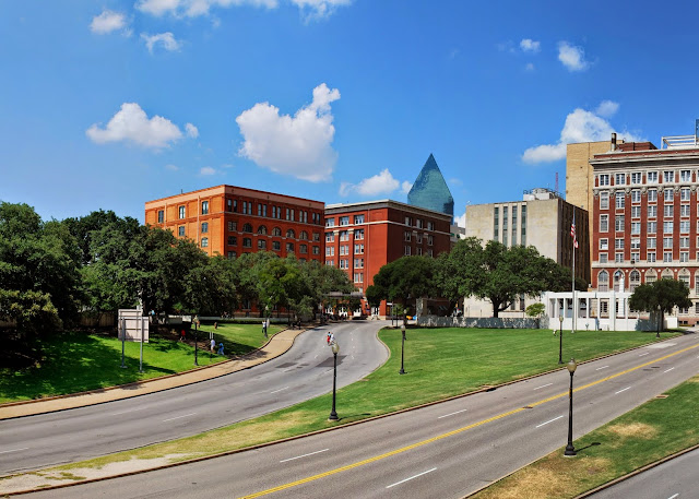
[(313, 100), (292, 117), (280, 116), (269, 103), (258, 103), (236, 118), (245, 142), (239, 154), (258, 166), (283, 175), (319, 182), (330, 180), (337, 159), (331, 144), (335, 135), (330, 103), (337, 88), (324, 83), (313, 88)]

